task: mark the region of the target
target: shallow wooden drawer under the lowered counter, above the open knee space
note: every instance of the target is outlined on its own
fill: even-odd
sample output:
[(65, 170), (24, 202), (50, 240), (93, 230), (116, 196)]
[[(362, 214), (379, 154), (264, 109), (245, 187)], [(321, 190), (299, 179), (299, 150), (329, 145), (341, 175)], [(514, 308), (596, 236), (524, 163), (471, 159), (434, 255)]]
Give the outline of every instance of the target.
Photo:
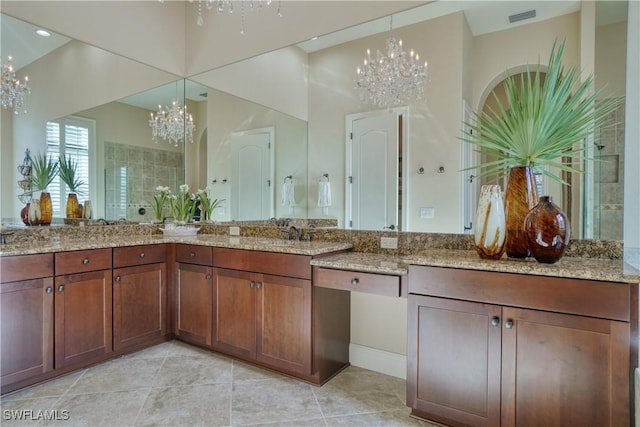
[(313, 284), (323, 288), (358, 291), (390, 297), (400, 296), (400, 277), (349, 270), (317, 268)]

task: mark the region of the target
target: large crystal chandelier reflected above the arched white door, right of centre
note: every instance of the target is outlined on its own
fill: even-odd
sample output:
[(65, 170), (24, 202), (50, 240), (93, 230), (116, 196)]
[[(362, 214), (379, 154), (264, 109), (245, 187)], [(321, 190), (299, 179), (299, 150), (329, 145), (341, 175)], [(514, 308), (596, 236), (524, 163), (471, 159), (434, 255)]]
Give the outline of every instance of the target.
[[(391, 17), (391, 27), (393, 17)], [(379, 107), (397, 106), (410, 100), (424, 98), (427, 79), (427, 61), (420, 64), (420, 58), (413, 50), (407, 54), (402, 49), (402, 40), (391, 35), (389, 29), (387, 52), (379, 50), (375, 59), (367, 49), (363, 68), (357, 68), (356, 87), (360, 99)]]

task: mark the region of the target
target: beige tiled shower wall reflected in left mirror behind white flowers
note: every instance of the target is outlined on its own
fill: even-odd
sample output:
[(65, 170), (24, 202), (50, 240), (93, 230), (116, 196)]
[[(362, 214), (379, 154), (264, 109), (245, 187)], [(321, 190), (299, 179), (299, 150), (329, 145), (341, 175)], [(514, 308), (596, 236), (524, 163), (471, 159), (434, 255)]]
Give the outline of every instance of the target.
[(105, 142), (104, 165), (107, 219), (153, 220), (156, 187), (176, 192), (184, 180), (183, 153)]

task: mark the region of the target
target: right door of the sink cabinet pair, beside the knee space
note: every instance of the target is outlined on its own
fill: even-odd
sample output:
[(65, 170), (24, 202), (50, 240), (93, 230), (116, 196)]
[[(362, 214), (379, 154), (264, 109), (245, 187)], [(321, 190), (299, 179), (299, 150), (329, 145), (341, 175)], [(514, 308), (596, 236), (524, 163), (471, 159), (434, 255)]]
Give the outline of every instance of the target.
[(256, 288), (258, 360), (311, 375), (311, 282), (264, 275)]

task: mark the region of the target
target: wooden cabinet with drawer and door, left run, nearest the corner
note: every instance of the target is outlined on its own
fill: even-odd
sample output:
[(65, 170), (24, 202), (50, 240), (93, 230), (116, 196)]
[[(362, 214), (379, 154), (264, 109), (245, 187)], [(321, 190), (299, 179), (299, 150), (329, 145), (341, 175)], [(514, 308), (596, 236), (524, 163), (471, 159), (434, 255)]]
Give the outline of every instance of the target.
[(113, 250), (113, 349), (157, 342), (167, 333), (167, 247)]

